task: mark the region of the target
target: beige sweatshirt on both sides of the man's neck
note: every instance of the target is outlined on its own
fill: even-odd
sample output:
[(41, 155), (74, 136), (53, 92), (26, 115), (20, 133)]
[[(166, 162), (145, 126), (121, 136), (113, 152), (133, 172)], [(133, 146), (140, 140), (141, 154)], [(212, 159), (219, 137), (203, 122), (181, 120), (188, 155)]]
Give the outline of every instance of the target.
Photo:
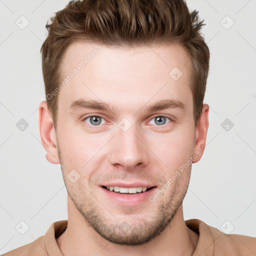
[[(199, 234), (193, 256), (255, 256), (256, 238), (240, 234), (225, 234), (199, 219), (185, 220), (188, 228)], [(53, 222), (45, 235), (13, 249), (3, 256), (63, 256), (56, 238), (65, 231), (67, 220)]]

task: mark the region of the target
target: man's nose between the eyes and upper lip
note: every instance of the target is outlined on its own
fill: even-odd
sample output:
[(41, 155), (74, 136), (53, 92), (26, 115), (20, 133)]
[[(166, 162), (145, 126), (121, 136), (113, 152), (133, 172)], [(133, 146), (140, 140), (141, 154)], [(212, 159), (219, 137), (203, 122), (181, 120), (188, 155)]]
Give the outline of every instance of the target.
[(126, 170), (132, 170), (138, 165), (147, 165), (149, 149), (142, 132), (138, 132), (135, 125), (123, 131), (117, 127), (117, 134), (112, 139), (110, 162), (118, 167), (122, 165)]

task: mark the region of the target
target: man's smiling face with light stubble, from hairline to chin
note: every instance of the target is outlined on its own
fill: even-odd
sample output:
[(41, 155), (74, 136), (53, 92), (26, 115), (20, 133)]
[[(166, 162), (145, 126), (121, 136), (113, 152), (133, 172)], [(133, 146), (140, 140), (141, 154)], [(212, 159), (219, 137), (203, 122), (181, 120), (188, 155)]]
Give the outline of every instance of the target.
[[(102, 237), (142, 244), (169, 224), (189, 183), (191, 164), (161, 189), (195, 154), (189, 57), (177, 44), (124, 49), (75, 42), (63, 56), (63, 74), (78, 69), (88, 54), (58, 95), (56, 138), (64, 182), (79, 213)], [(182, 72), (178, 79), (176, 67)], [(150, 110), (166, 100), (172, 100), (168, 108)], [(71, 182), (70, 175), (78, 179)], [(123, 194), (108, 186), (152, 188)]]

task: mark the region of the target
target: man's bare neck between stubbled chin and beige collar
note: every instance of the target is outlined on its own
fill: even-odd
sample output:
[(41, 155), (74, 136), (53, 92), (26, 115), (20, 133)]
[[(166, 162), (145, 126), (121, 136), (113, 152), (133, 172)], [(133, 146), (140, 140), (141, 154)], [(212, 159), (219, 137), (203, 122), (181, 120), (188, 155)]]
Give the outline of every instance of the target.
[(136, 246), (120, 245), (101, 237), (84, 219), (68, 196), (68, 224), (66, 230), (56, 239), (65, 256), (87, 255), (192, 255), (198, 235), (190, 230), (183, 219), (182, 204), (164, 230), (150, 241)]

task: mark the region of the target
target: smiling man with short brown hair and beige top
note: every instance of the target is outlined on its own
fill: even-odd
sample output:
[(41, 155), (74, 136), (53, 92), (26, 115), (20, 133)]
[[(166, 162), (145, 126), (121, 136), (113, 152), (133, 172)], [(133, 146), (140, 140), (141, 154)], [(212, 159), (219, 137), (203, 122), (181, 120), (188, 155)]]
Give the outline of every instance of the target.
[(68, 220), (4, 255), (255, 255), (254, 237), (183, 218), (208, 129), (197, 12), (181, 0), (71, 1), (46, 27), (39, 129)]

